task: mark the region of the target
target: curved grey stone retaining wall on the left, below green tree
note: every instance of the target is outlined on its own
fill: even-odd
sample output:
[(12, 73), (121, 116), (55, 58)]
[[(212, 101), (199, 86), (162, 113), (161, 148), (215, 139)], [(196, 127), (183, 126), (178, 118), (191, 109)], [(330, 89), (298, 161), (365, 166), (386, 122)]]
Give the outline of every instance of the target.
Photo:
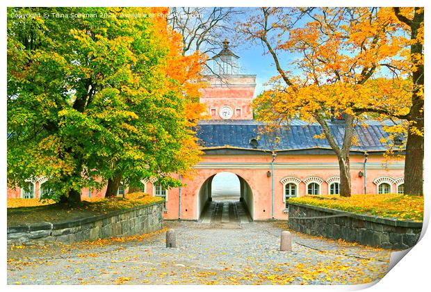
[(31, 241), (71, 243), (154, 232), (162, 227), (162, 209), (163, 203), (156, 202), (88, 218), (8, 227), (8, 243)]

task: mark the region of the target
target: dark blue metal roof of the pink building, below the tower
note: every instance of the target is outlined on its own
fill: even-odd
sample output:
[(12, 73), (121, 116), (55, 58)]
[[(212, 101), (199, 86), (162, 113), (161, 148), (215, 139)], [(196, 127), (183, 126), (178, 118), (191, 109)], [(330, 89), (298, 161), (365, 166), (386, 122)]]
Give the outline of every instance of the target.
[[(352, 151), (386, 151), (389, 134), (382, 128), (390, 121), (366, 121), (364, 125), (357, 125), (355, 134), (359, 145), (352, 145)], [(344, 136), (342, 122), (328, 122), (328, 125), (341, 147)], [(204, 148), (239, 148), (288, 151), (300, 149), (330, 149), (326, 138), (314, 138), (322, 133), (319, 124), (309, 124), (301, 120), (293, 120), (284, 124), (277, 133), (267, 133), (263, 129), (264, 123), (255, 120), (202, 120), (198, 123), (197, 138)], [(273, 137), (279, 137), (278, 141)], [(257, 139), (258, 145), (253, 146), (250, 140)]]

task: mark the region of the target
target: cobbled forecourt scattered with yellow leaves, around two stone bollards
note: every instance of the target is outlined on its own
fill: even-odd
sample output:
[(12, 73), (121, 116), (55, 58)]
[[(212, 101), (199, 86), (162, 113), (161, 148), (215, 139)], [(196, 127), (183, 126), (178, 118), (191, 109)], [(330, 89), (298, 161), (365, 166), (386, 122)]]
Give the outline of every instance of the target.
[[(165, 222), (154, 234), (70, 245), (9, 245), (8, 284), (362, 284), (381, 279), (390, 251), (293, 234), (282, 222)], [(177, 248), (165, 248), (174, 228)]]

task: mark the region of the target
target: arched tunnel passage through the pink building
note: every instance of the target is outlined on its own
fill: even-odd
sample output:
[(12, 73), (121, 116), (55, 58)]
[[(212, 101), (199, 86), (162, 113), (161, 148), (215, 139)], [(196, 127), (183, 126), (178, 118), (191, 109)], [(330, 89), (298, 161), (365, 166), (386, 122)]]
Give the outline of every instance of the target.
[(204, 181), (197, 200), (204, 223), (247, 223), (253, 220), (253, 192), (243, 177), (219, 172)]

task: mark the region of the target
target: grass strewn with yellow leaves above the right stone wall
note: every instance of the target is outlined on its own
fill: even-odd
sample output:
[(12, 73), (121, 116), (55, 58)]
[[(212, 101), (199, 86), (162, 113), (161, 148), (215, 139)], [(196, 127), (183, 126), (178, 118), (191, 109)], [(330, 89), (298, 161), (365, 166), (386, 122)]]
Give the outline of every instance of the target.
[(396, 218), (398, 220), (423, 221), (423, 197), (400, 194), (381, 195), (306, 195), (294, 197), (289, 202), (321, 206), (339, 211)]

